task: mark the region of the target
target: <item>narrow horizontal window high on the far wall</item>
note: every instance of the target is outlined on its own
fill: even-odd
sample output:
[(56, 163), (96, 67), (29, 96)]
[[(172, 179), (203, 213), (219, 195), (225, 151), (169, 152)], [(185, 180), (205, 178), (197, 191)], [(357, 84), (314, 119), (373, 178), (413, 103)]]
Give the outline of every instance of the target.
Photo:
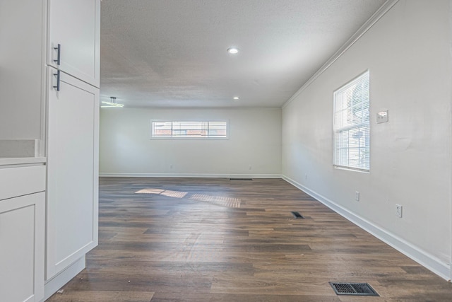
[(152, 137), (227, 138), (227, 122), (153, 122)]

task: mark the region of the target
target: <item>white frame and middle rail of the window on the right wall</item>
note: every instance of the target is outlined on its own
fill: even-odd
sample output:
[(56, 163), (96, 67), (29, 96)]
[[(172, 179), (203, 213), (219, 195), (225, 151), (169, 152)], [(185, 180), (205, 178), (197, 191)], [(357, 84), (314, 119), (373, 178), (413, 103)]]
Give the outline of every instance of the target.
[[(344, 127), (336, 127), (336, 114), (338, 113), (336, 111), (336, 94), (338, 93), (338, 91), (341, 90), (346, 90), (348, 88), (348, 86), (352, 86), (352, 84), (357, 81), (358, 79), (361, 79), (365, 74), (368, 74), (369, 76), (369, 120), (367, 122), (359, 122), (357, 124), (351, 124), (351, 125), (347, 125)], [(347, 83), (343, 84), (342, 86), (340, 86), (339, 88), (335, 89), (333, 91), (333, 167), (338, 169), (338, 170), (350, 170), (350, 171), (355, 171), (355, 172), (360, 172), (360, 173), (370, 173), (370, 152), (371, 152), (371, 145), (370, 145), (370, 141), (371, 141), (371, 122), (370, 122), (370, 117), (371, 117), (371, 113), (370, 113), (370, 71), (369, 69), (363, 71), (361, 74), (359, 74), (358, 76), (355, 76), (355, 78), (353, 78), (350, 81), (347, 81)], [(352, 108), (352, 106), (350, 106), (350, 108)], [(350, 129), (359, 129), (360, 127), (365, 127), (368, 126), (369, 127), (369, 162), (367, 165), (367, 168), (356, 168), (356, 167), (352, 167), (350, 165), (340, 165), (338, 164), (338, 135), (340, 135), (340, 132), (343, 131), (347, 131)], [(358, 147), (359, 148), (359, 147)]]

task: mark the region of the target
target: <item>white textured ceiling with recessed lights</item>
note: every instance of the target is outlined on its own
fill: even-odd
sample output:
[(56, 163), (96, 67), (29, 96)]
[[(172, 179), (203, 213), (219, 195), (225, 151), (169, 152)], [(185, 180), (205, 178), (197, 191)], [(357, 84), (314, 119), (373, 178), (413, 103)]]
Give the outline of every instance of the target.
[(103, 0), (101, 100), (280, 107), (384, 2)]

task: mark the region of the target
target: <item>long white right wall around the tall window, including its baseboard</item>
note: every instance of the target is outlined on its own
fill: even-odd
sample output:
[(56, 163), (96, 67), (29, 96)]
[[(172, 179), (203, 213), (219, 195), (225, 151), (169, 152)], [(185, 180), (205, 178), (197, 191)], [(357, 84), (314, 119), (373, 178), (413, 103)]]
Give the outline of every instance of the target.
[[(450, 5), (400, 0), (283, 108), (287, 180), (446, 279), (452, 243)], [(366, 69), (368, 174), (332, 164), (333, 91)], [(388, 123), (376, 124), (380, 110), (389, 110)], [(396, 203), (403, 205), (402, 219)]]

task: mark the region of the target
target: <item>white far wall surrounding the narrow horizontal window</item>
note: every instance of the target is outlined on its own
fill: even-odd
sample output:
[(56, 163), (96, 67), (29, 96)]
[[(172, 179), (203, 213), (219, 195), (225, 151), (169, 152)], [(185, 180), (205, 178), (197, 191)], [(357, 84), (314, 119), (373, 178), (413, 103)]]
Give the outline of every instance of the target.
[[(100, 112), (100, 175), (280, 177), (280, 108)], [(150, 139), (152, 120), (228, 120), (229, 139)]]

